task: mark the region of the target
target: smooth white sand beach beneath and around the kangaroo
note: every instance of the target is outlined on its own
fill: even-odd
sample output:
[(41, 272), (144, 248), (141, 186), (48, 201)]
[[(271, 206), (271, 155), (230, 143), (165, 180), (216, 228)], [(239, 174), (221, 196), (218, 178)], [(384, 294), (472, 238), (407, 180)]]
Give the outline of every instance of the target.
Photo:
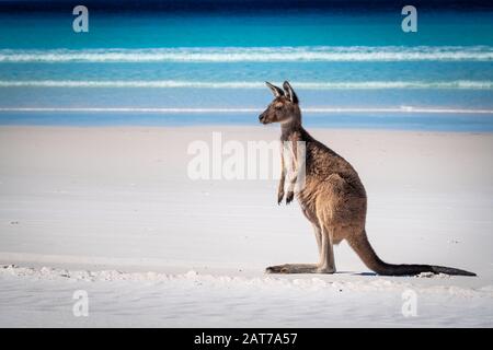
[(359, 173), (382, 259), (478, 277), (375, 276), (345, 243), (335, 275), (265, 275), (316, 261), (310, 223), (274, 179), (191, 179), (187, 148), (275, 126), (3, 126), (0, 326), (492, 327), (493, 133), (309, 131)]

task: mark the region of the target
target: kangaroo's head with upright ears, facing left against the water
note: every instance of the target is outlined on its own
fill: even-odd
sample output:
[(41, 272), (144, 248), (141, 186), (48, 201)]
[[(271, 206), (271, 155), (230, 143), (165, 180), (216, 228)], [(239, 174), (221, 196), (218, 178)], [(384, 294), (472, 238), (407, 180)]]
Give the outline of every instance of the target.
[(298, 96), (291, 85), (285, 81), (283, 91), (283, 89), (277, 88), (270, 82), (265, 83), (274, 93), (274, 100), (267, 106), (267, 109), (259, 116), (259, 121), (262, 124), (300, 121), (301, 114), (299, 110)]

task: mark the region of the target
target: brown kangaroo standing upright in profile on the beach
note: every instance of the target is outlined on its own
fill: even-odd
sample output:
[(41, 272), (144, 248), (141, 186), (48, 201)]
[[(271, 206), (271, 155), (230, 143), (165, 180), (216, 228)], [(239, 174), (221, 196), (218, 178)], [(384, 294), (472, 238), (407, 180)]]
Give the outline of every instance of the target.
[[(277, 202), (286, 197), (289, 205), (296, 195), (301, 211), (311, 222), (319, 247), (317, 264), (285, 264), (266, 268), (267, 273), (334, 273), (332, 246), (346, 240), (363, 262), (383, 276), (412, 276), (421, 272), (475, 276), (473, 272), (434, 265), (394, 265), (381, 260), (371, 247), (365, 230), (367, 196), (365, 187), (353, 166), (341, 155), (313, 139), (301, 126), (298, 96), (285, 81), (283, 89), (266, 82), (274, 93), (274, 101), (259, 116), (261, 124), (280, 124), (283, 143), (305, 142), (305, 186), (295, 194), (294, 180), (285, 196), (286, 173), (300, 160), (287, 162), (282, 152), (282, 174)], [(296, 168), (295, 168), (296, 171)]]

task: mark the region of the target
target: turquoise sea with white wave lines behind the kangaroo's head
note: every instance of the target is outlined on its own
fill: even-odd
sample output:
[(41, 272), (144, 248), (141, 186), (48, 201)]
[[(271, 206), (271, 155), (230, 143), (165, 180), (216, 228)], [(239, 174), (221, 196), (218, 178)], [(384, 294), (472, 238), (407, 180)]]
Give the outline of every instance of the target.
[(255, 124), (289, 80), (308, 125), (493, 130), (493, 13), (0, 14), (0, 124)]

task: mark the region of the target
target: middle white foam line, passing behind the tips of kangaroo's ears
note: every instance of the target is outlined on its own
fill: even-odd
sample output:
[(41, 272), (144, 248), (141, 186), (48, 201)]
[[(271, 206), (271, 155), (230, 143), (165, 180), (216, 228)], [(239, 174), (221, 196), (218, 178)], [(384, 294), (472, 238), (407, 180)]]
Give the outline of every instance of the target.
[[(180, 80), (25, 80), (0, 81), (0, 88), (154, 88), (154, 89), (265, 89), (264, 82), (242, 81), (180, 81)], [(355, 82), (297, 82), (306, 90), (381, 90), (381, 89), (463, 89), (492, 90), (493, 81), (355, 81)]]

